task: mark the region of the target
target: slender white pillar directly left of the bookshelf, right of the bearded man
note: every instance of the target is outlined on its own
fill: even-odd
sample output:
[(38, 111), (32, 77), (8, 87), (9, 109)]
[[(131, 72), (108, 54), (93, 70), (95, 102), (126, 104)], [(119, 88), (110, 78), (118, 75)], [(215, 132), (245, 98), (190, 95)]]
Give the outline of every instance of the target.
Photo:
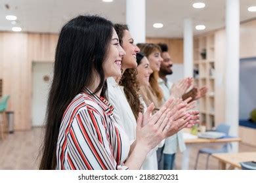
[(184, 19), (183, 27), (184, 77), (193, 76), (193, 26), (190, 18)]

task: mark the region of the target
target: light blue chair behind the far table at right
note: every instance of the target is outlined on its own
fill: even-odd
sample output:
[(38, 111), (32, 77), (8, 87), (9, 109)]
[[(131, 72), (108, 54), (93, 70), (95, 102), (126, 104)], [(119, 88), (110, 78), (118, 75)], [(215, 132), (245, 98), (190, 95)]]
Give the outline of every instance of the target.
[[(226, 135), (228, 135), (229, 129), (230, 129), (230, 125), (220, 124), (216, 127), (215, 131), (225, 133)], [(197, 167), (198, 167), (198, 159), (199, 159), (200, 154), (207, 154), (207, 161), (206, 161), (205, 169), (208, 169), (208, 167), (209, 167), (209, 158), (210, 158), (211, 154), (226, 153), (226, 152), (228, 152), (228, 146), (229, 145), (231, 145), (231, 144), (226, 143), (219, 149), (215, 149), (215, 148), (202, 148), (202, 149), (200, 149), (198, 151), (198, 156), (196, 156), (196, 164), (195, 164), (194, 169), (196, 170)]]

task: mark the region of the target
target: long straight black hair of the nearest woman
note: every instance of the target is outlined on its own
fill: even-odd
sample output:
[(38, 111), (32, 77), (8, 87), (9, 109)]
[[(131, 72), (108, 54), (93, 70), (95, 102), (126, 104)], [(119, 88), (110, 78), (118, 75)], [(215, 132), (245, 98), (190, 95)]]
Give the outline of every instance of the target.
[(104, 86), (102, 63), (108, 52), (112, 32), (112, 22), (99, 16), (77, 16), (62, 27), (56, 47), (39, 169), (56, 168), (60, 123), (75, 95), (95, 80), (95, 73), (100, 83), (93, 92), (99, 92)]

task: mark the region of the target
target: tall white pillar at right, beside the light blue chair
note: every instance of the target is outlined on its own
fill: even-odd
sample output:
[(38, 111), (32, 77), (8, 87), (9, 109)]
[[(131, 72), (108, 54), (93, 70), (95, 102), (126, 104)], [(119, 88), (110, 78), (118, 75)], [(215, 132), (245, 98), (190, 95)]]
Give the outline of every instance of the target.
[[(230, 135), (238, 136), (239, 122), (239, 48), (240, 1), (226, 0), (226, 124)], [(233, 145), (238, 150), (238, 143)]]

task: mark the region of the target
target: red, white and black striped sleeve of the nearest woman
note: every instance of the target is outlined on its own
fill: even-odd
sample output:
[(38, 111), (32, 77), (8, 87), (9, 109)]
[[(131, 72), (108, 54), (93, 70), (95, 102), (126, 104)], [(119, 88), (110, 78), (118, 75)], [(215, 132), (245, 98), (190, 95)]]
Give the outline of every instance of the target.
[(76, 114), (68, 134), (70, 169), (127, 169), (117, 165), (106, 129), (106, 121), (96, 110), (81, 110)]

